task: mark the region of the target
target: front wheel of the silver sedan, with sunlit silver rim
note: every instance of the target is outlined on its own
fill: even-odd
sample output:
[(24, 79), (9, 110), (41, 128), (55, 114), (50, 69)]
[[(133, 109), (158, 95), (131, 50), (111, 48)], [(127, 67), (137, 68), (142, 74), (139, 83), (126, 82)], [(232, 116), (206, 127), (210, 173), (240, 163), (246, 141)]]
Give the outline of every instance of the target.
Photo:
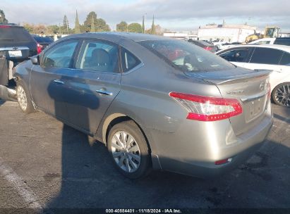
[(28, 114), (35, 112), (35, 108), (32, 105), (32, 100), (30, 99), (28, 90), (22, 82), (17, 82), (16, 94), (18, 104), (24, 113)]

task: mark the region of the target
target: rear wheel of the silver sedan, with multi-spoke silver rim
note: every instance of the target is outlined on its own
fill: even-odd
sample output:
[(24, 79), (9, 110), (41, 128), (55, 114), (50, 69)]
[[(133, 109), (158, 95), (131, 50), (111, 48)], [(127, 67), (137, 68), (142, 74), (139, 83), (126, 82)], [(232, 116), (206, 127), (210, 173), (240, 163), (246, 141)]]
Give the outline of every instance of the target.
[(109, 131), (107, 147), (116, 168), (130, 179), (149, 174), (150, 149), (138, 125), (133, 120), (120, 122)]

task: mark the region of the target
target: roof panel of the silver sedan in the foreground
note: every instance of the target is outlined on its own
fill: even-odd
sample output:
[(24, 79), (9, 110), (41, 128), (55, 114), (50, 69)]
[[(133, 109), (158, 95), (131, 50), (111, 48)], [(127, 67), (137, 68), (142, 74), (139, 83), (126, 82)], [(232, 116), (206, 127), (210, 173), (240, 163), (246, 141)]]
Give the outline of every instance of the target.
[(168, 40), (172, 39), (170, 37), (161, 37), (152, 34), (140, 34), (140, 33), (132, 33), (132, 32), (88, 32), (83, 34), (72, 34), (67, 37), (61, 38), (78, 38), (78, 37), (106, 37), (107, 39), (117, 39), (117, 38), (126, 38), (131, 39), (135, 42), (147, 41), (147, 40)]

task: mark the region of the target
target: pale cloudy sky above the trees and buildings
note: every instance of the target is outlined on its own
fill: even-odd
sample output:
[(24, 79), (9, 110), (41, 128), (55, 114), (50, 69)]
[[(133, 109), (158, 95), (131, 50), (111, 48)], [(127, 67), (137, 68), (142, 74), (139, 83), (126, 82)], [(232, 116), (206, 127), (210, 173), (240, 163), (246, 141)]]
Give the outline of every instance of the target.
[(59, 25), (67, 15), (70, 26), (75, 23), (78, 10), (80, 23), (87, 13), (95, 11), (116, 30), (121, 20), (142, 23), (146, 14), (146, 27), (155, 24), (169, 30), (197, 30), (207, 23), (258, 26), (277, 25), (283, 32), (290, 32), (289, 0), (0, 0), (0, 9), (11, 23), (43, 23)]

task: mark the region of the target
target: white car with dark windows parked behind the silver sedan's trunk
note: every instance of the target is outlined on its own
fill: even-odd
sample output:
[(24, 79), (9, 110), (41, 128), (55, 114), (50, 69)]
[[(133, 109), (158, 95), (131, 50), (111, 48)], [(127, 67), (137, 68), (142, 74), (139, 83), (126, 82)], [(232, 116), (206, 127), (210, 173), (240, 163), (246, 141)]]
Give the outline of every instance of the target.
[(217, 52), (218, 56), (243, 68), (269, 69), (272, 100), (290, 107), (290, 47), (260, 44), (235, 46)]

